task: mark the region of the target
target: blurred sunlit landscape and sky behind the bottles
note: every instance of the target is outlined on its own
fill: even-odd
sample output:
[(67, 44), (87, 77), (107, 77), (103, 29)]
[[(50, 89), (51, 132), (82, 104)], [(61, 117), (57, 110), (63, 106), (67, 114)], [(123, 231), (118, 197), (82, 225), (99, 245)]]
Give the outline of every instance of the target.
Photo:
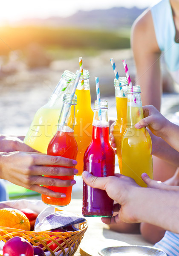
[[(153, 3), (154, 0), (3, 1), (0, 132), (25, 135), (35, 112), (48, 101), (64, 70), (75, 73), (79, 69), (80, 56), (84, 69), (90, 72), (92, 104), (98, 76), (101, 98), (108, 99), (109, 115), (115, 118), (115, 77), (110, 58), (114, 58), (120, 76), (125, 76), (122, 59), (126, 59), (134, 83), (130, 29), (136, 17)], [(162, 65), (166, 110), (173, 108), (178, 94), (174, 84), (169, 88), (171, 79)]]

